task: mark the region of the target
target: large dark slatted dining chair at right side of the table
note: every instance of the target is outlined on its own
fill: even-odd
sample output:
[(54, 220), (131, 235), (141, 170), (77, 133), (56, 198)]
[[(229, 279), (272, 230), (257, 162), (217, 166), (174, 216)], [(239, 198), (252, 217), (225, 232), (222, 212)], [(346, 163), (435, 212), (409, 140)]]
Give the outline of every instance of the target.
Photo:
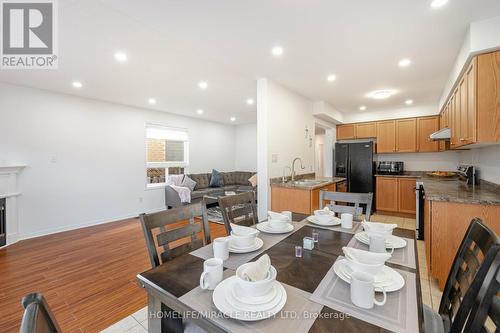
[(499, 251), (500, 240), (495, 232), (480, 219), (473, 219), (453, 260), (439, 311), (424, 306), (426, 332), (462, 332)]

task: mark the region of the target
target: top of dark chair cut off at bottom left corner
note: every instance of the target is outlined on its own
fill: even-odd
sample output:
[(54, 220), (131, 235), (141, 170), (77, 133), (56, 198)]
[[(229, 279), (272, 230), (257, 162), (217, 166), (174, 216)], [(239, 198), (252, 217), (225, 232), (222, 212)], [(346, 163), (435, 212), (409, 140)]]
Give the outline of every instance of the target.
[(23, 297), (24, 308), (20, 333), (59, 333), (61, 329), (42, 294), (33, 293)]

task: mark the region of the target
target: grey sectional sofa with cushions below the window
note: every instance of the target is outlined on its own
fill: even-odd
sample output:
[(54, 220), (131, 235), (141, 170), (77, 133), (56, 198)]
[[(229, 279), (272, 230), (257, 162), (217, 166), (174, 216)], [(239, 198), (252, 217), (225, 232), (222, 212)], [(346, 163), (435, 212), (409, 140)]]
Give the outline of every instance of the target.
[[(210, 187), (211, 173), (188, 174), (187, 176), (196, 182), (193, 192), (191, 192), (191, 203), (197, 203), (203, 200), (203, 196), (223, 191), (251, 191), (257, 192), (257, 187), (253, 187), (248, 181), (255, 172), (249, 171), (231, 171), (222, 172), (224, 186)], [(183, 205), (179, 194), (170, 186), (165, 187), (165, 205), (168, 208), (179, 207)]]

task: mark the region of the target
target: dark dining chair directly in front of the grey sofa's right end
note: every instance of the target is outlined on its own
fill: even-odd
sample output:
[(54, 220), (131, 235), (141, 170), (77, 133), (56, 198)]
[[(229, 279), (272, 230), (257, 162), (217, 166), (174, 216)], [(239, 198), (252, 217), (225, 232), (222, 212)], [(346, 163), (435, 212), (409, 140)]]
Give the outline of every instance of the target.
[(253, 191), (219, 198), (219, 207), (229, 235), (231, 223), (250, 226), (257, 224), (257, 204)]

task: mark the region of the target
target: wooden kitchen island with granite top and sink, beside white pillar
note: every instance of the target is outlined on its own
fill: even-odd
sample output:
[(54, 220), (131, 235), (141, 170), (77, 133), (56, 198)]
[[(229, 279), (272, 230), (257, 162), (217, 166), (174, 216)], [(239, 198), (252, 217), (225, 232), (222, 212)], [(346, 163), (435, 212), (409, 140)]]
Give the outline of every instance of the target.
[(345, 178), (301, 177), (295, 181), (283, 182), (281, 178), (271, 179), (271, 209), (289, 210), (294, 213), (312, 214), (319, 208), (320, 191), (346, 191)]

